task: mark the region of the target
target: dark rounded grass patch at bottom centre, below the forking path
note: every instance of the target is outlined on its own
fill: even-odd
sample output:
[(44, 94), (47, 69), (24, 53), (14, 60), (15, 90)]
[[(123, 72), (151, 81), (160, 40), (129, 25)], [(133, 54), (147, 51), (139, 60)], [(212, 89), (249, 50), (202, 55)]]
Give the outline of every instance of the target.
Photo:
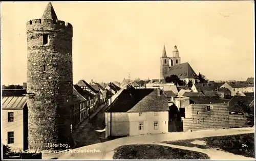
[(114, 150), (113, 159), (210, 159), (207, 154), (162, 145), (124, 145)]

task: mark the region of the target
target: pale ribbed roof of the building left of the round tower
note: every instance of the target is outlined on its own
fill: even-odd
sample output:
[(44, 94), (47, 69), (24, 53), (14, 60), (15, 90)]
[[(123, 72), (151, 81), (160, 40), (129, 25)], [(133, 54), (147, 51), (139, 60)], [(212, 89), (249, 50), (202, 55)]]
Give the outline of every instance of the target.
[(4, 109), (23, 109), (26, 104), (26, 96), (7, 96), (2, 98), (2, 108)]

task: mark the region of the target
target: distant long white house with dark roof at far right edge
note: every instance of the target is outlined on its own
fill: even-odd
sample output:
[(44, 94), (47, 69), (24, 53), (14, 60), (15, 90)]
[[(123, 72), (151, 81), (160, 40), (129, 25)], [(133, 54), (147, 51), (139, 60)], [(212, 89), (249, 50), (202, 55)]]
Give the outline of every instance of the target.
[(231, 96), (254, 92), (254, 85), (249, 83), (225, 83), (221, 88), (229, 89), (231, 91)]

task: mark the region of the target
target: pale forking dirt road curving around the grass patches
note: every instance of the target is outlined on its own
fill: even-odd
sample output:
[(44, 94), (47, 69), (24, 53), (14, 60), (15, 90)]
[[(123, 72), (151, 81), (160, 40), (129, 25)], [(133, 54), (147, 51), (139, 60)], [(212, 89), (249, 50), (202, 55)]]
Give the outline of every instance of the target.
[(113, 159), (114, 150), (119, 146), (131, 144), (155, 144), (172, 148), (198, 151), (209, 155), (210, 159), (253, 159), (251, 157), (235, 155), (216, 149), (200, 149), (197, 147), (185, 147), (162, 143), (164, 141), (176, 141), (186, 139), (197, 139), (215, 136), (239, 135), (252, 133), (254, 128), (232, 128), (218, 130), (204, 130), (192, 132), (168, 132), (159, 135), (146, 135), (136, 137), (124, 137), (103, 143), (92, 144), (74, 149), (76, 152), (63, 153), (58, 159)]

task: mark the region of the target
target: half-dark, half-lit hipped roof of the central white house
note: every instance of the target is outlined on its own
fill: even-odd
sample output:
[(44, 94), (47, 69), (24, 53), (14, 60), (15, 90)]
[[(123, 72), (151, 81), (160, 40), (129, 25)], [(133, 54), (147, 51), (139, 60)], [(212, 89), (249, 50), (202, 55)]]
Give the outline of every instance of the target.
[(157, 89), (123, 90), (106, 112), (150, 112), (168, 111), (168, 101), (164, 94), (158, 96)]

